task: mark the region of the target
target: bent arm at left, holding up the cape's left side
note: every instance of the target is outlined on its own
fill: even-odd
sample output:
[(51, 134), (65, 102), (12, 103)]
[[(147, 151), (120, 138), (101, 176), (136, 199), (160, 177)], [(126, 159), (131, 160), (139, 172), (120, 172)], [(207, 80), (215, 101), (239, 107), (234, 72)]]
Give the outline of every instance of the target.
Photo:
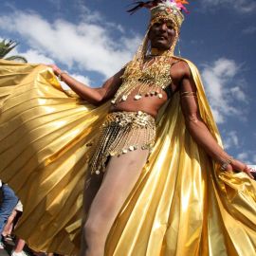
[(56, 76), (61, 78), (74, 92), (76, 92), (83, 100), (94, 105), (100, 105), (104, 101), (113, 97), (121, 83), (121, 76), (124, 72), (122, 68), (117, 74), (108, 79), (100, 88), (92, 88), (82, 82), (79, 82), (61, 70), (55, 64), (49, 64)]

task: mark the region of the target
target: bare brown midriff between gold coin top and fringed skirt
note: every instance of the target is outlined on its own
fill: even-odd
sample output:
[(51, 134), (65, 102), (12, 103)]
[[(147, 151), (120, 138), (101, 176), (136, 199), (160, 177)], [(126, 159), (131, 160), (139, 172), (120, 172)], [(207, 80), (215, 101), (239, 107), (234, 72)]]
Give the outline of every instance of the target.
[(143, 96), (138, 101), (135, 100), (138, 88), (136, 88), (127, 98), (126, 101), (119, 101), (112, 104), (109, 112), (117, 111), (127, 111), (127, 112), (137, 112), (142, 111), (156, 118), (158, 110), (160, 107), (168, 100), (167, 94), (162, 90), (162, 98), (159, 99), (157, 96)]

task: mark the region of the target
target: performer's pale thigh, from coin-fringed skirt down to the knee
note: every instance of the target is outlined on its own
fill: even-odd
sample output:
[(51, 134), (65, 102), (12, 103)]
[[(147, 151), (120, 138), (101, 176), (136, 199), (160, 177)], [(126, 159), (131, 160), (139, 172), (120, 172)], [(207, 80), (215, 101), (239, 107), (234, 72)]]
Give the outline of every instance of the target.
[(89, 216), (97, 218), (103, 215), (110, 219), (116, 217), (133, 190), (148, 155), (148, 150), (137, 149), (125, 155), (111, 157)]

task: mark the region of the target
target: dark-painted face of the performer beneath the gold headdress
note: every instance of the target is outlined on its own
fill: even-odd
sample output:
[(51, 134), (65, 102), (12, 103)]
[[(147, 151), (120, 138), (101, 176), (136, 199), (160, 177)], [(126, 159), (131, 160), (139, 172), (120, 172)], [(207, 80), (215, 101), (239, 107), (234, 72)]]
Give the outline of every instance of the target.
[(170, 49), (173, 45), (174, 37), (175, 30), (172, 21), (161, 20), (156, 22), (149, 31), (149, 40), (152, 48)]

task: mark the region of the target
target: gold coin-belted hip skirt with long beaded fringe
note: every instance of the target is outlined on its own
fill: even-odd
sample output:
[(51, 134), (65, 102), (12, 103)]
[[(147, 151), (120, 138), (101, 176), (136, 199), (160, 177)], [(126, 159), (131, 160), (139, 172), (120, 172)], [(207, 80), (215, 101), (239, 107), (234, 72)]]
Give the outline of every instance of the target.
[(141, 111), (109, 113), (98, 137), (89, 164), (91, 174), (104, 172), (110, 155), (127, 154), (137, 148), (151, 150), (155, 144), (155, 119)]

